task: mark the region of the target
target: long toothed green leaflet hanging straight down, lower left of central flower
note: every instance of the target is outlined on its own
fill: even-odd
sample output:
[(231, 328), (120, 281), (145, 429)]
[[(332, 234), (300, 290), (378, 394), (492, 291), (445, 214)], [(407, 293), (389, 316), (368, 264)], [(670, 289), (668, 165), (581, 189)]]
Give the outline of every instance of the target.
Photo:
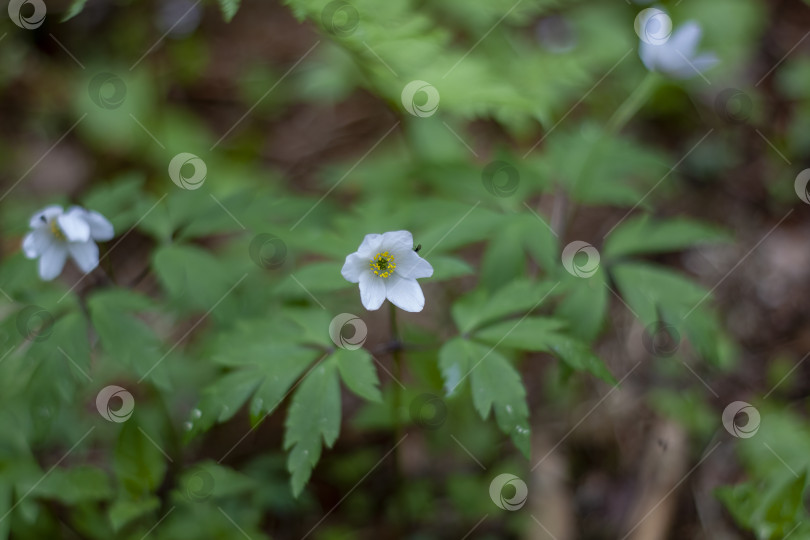
[(301, 494), (321, 457), (321, 440), (328, 448), (340, 432), (340, 383), (333, 359), (327, 359), (304, 378), (287, 413), (284, 449), (294, 496)]

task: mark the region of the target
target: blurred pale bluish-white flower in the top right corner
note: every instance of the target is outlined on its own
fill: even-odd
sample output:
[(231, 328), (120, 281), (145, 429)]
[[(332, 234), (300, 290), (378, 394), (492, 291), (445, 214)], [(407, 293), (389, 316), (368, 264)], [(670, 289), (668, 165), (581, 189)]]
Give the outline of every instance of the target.
[(689, 79), (711, 68), (719, 61), (714, 53), (697, 54), (701, 28), (695, 21), (678, 27), (669, 39), (660, 44), (642, 39), (639, 44), (641, 61), (650, 71), (674, 79)]

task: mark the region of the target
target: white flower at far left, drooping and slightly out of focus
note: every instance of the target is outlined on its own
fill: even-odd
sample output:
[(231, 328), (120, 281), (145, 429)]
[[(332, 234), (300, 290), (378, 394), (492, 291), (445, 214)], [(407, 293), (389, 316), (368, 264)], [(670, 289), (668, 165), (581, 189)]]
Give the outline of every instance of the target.
[(62, 273), (67, 256), (82, 272), (98, 266), (95, 241), (109, 240), (115, 233), (107, 218), (78, 206), (67, 212), (61, 206), (49, 206), (31, 218), (34, 229), (23, 240), (23, 252), (29, 259), (39, 257), (39, 277), (50, 281)]

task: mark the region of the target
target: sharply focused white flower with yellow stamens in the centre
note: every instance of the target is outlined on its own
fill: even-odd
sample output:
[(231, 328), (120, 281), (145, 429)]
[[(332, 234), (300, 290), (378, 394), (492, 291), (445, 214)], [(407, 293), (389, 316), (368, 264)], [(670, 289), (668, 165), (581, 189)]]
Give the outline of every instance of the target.
[(422, 311), (425, 295), (416, 282), (433, 275), (433, 267), (413, 248), (408, 231), (367, 234), (357, 251), (346, 256), (344, 278), (360, 284), (360, 300), (368, 310), (386, 298), (405, 311)]

